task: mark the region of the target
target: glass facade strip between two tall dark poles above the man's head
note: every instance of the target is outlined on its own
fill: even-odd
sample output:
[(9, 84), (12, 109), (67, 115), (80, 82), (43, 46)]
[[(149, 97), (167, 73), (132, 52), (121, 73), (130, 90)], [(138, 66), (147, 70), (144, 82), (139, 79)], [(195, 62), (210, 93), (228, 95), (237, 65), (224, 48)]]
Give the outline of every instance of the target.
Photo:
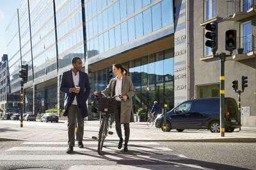
[(61, 1), (56, 1), (56, 24), (58, 66), (61, 69), (70, 65), (72, 57), (84, 59), (81, 0), (69, 1), (65, 5)]

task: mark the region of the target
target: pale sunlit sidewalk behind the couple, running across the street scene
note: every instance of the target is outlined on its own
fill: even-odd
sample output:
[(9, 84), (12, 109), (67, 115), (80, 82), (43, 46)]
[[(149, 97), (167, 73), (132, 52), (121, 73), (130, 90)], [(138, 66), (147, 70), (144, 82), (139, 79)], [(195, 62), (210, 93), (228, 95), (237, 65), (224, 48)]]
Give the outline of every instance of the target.
[[(170, 132), (163, 132), (156, 127), (148, 127), (147, 122), (131, 123), (130, 127), (130, 141), (256, 142), (256, 127), (242, 127), (241, 131), (235, 129), (232, 133), (225, 132), (225, 137), (221, 137), (220, 133), (212, 133), (204, 129), (185, 129), (183, 132), (172, 129)], [(122, 129), (124, 129), (123, 125)], [(109, 131), (113, 131), (114, 134), (108, 135), (106, 140), (118, 141), (115, 124), (113, 129), (109, 129)], [(85, 122), (84, 141), (93, 140), (92, 136), (97, 136), (98, 132), (99, 120)], [(2, 120), (0, 121), (0, 141), (8, 140), (67, 141), (67, 120), (60, 120), (58, 124), (24, 122), (23, 127), (20, 127), (19, 121)]]

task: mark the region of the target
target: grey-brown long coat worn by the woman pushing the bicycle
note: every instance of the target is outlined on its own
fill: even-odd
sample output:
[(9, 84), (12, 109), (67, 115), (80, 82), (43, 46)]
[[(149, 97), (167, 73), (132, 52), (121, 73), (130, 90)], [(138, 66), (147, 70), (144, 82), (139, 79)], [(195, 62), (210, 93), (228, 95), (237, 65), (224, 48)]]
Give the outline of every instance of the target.
[[(112, 78), (106, 87), (102, 91), (106, 96), (115, 96), (115, 87), (116, 87), (117, 78)], [(120, 114), (120, 123), (129, 123), (134, 122), (133, 111), (132, 111), (132, 96), (134, 96), (135, 89), (132, 85), (132, 80), (129, 76), (123, 75), (122, 80), (122, 96), (128, 96), (127, 100), (121, 101), (121, 114)]]

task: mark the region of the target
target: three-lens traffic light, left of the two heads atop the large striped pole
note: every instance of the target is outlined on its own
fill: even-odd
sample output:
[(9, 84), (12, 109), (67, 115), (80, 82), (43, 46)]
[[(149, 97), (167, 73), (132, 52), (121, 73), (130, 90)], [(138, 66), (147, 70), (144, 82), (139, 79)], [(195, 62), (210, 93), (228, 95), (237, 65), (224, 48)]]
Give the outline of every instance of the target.
[(207, 24), (205, 25), (205, 29), (207, 30), (205, 33), (205, 38), (207, 38), (207, 41), (205, 41), (205, 46), (209, 46), (212, 52), (216, 52), (218, 49), (217, 23), (212, 22), (211, 24)]

